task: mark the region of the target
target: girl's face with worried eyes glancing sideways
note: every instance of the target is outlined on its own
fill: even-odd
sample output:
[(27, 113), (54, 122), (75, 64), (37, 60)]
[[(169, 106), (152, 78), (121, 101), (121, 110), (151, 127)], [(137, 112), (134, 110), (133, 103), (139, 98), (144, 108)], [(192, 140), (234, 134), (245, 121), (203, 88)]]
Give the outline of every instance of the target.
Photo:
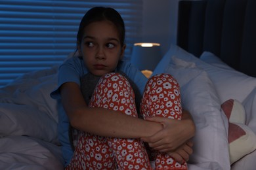
[(116, 26), (106, 20), (87, 25), (82, 41), (77, 43), (87, 69), (97, 76), (114, 71), (125, 50)]

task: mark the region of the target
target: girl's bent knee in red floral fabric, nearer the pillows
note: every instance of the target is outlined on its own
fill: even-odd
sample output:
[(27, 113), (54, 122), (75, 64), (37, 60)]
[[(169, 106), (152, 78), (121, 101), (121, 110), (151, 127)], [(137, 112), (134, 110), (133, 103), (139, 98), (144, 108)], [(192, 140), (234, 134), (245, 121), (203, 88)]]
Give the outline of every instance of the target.
[(152, 76), (146, 84), (140, 109), (144, 117), (181, 119), (181, 93), (177, 80), (165, 73)]

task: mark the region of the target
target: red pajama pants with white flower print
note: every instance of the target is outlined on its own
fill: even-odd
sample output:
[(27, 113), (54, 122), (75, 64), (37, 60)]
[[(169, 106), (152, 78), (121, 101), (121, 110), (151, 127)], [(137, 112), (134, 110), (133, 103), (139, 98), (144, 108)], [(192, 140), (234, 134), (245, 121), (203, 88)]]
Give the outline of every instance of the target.
[[(128, 80), (119, 73), (100, 78), (89, 107), (119, 110), (138, 117), (135, 94)], [(140, 103), (143, 118), (163, 116), (181, 120), (182, 108), (179, 84), (167, 74), (150, 78)], [(150, 151), (155, 155), (156, 169), (187, 169), (167, 154)], [(152, 169), (146, 146), (140, 139), (100, 137), (83, 131), (72, 161), (66, 169)]]

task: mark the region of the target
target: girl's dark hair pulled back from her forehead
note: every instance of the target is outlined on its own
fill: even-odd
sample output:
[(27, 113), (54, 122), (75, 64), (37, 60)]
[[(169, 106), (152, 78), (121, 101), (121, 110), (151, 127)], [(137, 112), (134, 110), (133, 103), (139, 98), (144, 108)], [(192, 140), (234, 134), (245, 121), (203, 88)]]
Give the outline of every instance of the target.
[(94, 7), (86, 12), (79, 25), (77, 41), (81, 43), (83, 31), (87, 25), (92, 22), (99, 22), (103, 20), (108, 20), (116, 25), (119, 32), (121, 46), (123, 46), (125, 41), (125, 24), (123, 22), (123, 18), (121, 18), (121, 15), (115, 9), (106, 7)]

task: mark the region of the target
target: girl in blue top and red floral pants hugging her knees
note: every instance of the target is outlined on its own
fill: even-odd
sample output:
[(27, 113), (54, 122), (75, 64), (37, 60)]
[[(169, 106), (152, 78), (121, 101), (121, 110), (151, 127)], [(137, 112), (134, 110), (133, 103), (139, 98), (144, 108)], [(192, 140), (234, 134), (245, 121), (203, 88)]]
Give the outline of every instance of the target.
[[(58, 88), (51, 95), (60, 104), (58, 125), (66, 169), (151, 169), (149, 157), (156, 160), (156, 169), (186, 169), (195, 127), (188, 112), (182, 117), (179, 84), (167, 74), (147, 80), (121, 61), (124, 39), (119, 13), (95, 7), (79, 25), (81, 57), (70, 58), (59, 68)], [(138, 118), (135, 93), (137, 97), (143, 93), (140, 113), (146, 120)], [(69, 124), (79, 129), (74, 153)]]

